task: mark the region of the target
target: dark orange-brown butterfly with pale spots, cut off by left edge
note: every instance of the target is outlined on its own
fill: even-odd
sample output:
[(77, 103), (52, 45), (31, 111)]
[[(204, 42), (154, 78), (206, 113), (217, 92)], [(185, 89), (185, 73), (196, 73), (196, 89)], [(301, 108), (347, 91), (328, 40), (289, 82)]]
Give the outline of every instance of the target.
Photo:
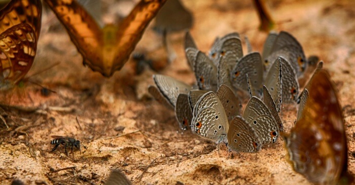
[(40, 0), (13, 0), (0, 11), (0, 90), (13, 88), (31, 68), (41, 16)]

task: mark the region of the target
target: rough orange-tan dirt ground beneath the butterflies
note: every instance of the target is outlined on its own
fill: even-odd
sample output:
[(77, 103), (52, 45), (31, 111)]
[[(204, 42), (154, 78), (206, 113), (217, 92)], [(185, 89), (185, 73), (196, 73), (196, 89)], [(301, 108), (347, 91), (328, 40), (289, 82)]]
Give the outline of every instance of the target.
[[(262, 50), (266, 33), (258, 31), (252, 1), (182, 1), (193, 12), (191, 30), (198, 47), (208, 51), (216, 36), (232, 31), (247, 35)], [(292, 33), (305, 54), (317, 55), (331, 73), (344, 110), (348, 171), (355, 173), (355, 1), (267, 1), (277, 30)], [(147, 29), (136, 52), (165, 60), (161, 38)], [(189, 84), (194, 76), (183, 50), (183, 32), (168, 35), (175, 60), (159, 71)], [(244, 51), (245, 48), (244, 48)], [(48, 66), (59, 65), (31, 76)], [(0, 183), (19, 178), (28, 184), (102, 184), (120, 169), (133, 184), (308, 184), (286, 162), (283, 141), (258, 154), (231, 153), (224, 145), (178, 129), (173, 110), (148, 95), (156, 72), (135, 75), (134, 61), (110, 78), (82, 65), (82, 57), (50, 11), (44, 11), (38, 53), (28, 76), (41, 87), (4, 93), (7, 128), (0, 125)], [(9, 100), (9, 94), (11, 100)], [(5, 98), (6, 97), (6, 98)], [(296, 105), (281, 110), (289, 131)], [(50, 153), (51, 135), (79, 139), (86, 149), (66, 156), (62, 146)], [(66, 170), (56, 171), (72, 167)]]

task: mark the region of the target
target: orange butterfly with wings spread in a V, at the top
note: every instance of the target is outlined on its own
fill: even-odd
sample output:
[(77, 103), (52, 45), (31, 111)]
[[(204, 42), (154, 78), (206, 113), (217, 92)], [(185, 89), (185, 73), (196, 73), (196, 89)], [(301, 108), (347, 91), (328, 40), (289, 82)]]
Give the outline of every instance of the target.
[(45, 0), (83, 56), (84, 65), (111, 77), (131, 52), (166, 0), (141, 0), (118, 25), (102, 29), (75, 0)]

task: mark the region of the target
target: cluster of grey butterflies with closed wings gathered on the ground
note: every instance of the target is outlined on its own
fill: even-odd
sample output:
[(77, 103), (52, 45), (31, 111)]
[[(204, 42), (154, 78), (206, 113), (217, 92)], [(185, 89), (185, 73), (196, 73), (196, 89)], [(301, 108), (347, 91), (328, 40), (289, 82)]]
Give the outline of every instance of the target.
[[(245, 41), (246, 55), (238, 33), (217, 38), (206, 55), (187, 32), (185, 53), (196, 85), (154, 75), (156, 86), (150, 86), (149, 92), (175, 109), (181, 129), (191, 128), (193, 133), (226, 143), (234, 151), (253, 153), (276, 142), (283, 131), (281, 102), (300, 101), (298, 78), (308, 62), (302, 46), (288, 32), (270, 33), (262, 55), (252, 52), (247, 38)], [(317, 70), (322, 66), (319, 62)], [(251, 97), (242, 114), (237, 91)]]

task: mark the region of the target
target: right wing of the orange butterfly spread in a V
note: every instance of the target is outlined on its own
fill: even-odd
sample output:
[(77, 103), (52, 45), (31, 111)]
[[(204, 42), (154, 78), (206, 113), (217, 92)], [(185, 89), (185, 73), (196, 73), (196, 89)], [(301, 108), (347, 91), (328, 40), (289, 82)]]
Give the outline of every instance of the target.
[(116, 35), (116, 52), (112, 61), (110, 76), (126, 63), (131, 52), (143, 36), (144, 30), (165, 2), (166, 0), (140, 1), (130, 14), (120, 22)]

